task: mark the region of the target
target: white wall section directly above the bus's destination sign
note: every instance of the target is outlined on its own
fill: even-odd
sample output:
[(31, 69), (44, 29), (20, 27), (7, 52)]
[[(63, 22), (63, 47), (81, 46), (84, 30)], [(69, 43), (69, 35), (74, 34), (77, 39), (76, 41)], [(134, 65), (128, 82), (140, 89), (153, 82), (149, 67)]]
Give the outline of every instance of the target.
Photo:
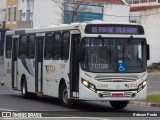
[[(129, 5), (104, 5), (103, 21), (107, 22), (129, 22)], [(112, 16), (113, 15), (113, 16)], [(122, 17), (119, 17), (122, 16)]]

